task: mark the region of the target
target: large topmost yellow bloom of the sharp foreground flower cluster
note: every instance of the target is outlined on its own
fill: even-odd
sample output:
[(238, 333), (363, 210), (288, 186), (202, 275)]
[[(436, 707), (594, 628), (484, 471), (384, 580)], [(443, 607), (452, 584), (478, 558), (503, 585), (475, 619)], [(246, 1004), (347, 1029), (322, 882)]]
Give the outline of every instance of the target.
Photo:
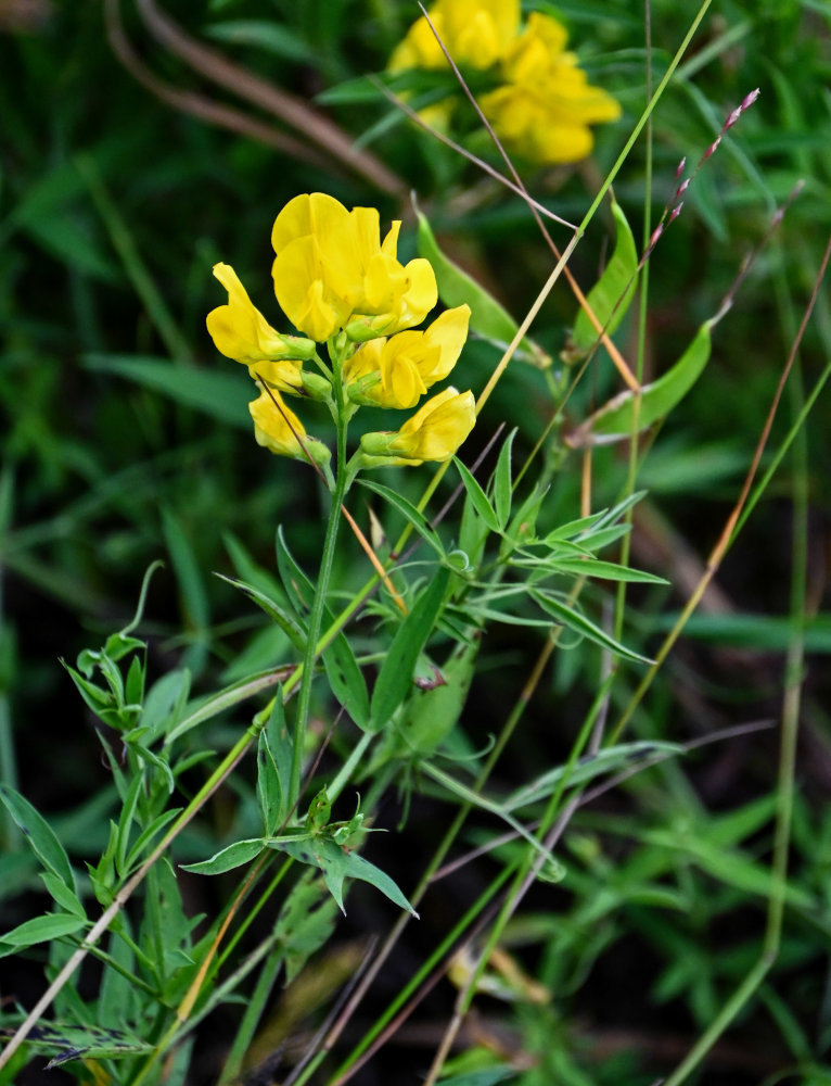
[(370, 339), (420, 324), (438, 300), (425, 260), (397, 260), (400, 223), (381, 241), (374, 207), (347, 211), (322, 192), (295, 197), (277, 216), (271, 269), (281, 308), (322, 342), (341, 329)]

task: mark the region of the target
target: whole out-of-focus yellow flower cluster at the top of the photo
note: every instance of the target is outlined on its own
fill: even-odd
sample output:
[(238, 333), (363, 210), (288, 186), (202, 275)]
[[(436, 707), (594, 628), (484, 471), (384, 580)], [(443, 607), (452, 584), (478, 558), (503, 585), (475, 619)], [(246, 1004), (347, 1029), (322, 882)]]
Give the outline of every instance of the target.
[[(555, 18), (532, 12), (524, 26), (519, 0), (437, 0), (430, 18), (460, 67), (493, 70), (498, 86), (480, 98), (500, 139), (532, 162), (555, 165), (585, 159), (590, 125), (616, 121), (618, 102), (591, 87), (567, 34)], [(447, 61), (422, 16), (389, 61), (389, 71), (439, 70)], [(433, 118), (442, 105), (433, 108)]]

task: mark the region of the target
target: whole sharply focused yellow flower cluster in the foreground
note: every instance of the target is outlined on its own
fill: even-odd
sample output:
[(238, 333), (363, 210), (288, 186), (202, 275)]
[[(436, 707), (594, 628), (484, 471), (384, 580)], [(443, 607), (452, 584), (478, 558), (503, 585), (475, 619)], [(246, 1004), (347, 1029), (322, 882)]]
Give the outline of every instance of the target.
[[(345, 421), (361, 404), (414, 407), (450, 374), (468, 337), (470, 310), (457, 306), (414, 330), (438, 300), (436, 278), (429, 261), (398, 261), (399, 228), (393, 223), (382, 240), (375, 209), (347, 211), (322, 192), (286, 204), (271, 231), (271, 274), (280, 307), (302, 337), (276, 331), (232, 267), (214, 268), (228, 303), (208, 314), (207, 328), (217, 349), (247, 366), (260, 389), (250, 405), (260, 445), (329, 460), (327, 446), (307, 435), (283, 394), (324, 401)], [(318, 354), (321, 343), (330, 365)], [(397, 432), (365, 434), (362, 466), (379, 457), (397, 464), (449, 459), (474, 421), (472, 394), (446, 389)]]

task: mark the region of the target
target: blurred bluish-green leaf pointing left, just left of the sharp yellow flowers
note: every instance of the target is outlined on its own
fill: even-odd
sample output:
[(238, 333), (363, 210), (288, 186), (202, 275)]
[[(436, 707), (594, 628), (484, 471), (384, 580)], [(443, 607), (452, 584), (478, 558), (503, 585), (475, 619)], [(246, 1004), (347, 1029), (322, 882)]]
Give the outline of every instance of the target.
[(175, 403), (209, 415), (225, 426), (251, 428), (245, 404), (252, 399), (253, 387), (242, 367), (197, 369), (132, 354), (85, 354), (81, 361), (87, 369), (125, 377), (152, 392), (161, 392)]

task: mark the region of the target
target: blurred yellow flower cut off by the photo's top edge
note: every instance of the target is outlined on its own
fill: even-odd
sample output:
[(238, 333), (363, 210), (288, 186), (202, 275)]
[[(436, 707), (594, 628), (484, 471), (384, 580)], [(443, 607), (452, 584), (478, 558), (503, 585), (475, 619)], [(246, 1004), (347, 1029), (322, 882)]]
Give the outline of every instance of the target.
[[(520, 0), (438, 0), (430, 18), (452, 59), (461, 66), (491, 67), (499, 61), (520, 26)], [(444, 68), (442, 47), (422, 16), (393, 53), (388, 68)]]

